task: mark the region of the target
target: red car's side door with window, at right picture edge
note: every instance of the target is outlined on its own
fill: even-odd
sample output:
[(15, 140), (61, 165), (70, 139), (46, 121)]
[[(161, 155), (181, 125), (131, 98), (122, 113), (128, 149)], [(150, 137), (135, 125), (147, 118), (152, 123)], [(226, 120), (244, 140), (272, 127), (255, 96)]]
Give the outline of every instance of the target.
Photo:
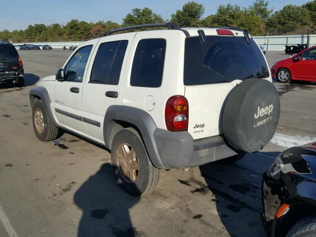
[(302, 53), (301, 60), (294, 64), (294, 76), (301, 80), (316, 79), (316, 47)]

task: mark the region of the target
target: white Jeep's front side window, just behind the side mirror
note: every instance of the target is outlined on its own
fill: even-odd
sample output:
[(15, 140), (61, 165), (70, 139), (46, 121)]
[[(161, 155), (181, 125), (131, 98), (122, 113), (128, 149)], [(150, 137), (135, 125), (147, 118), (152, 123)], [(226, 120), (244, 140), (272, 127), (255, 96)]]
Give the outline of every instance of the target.
[(79, 48), (64, 69), (65, 80), (82, 82), (92, 45)]

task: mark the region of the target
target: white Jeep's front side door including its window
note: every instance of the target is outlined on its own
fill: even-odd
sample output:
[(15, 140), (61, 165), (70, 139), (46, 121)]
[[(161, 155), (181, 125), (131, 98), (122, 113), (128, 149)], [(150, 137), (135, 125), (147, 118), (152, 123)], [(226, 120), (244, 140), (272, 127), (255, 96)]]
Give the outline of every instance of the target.
[(56, 118), (65, 128), (85, 133), (82, 122), (82, 88), (86, 66), (91, 57), (93, 42), (76, 50), (64, 66), (65, 80), (56, 80), (53, 85), (53, 100)]

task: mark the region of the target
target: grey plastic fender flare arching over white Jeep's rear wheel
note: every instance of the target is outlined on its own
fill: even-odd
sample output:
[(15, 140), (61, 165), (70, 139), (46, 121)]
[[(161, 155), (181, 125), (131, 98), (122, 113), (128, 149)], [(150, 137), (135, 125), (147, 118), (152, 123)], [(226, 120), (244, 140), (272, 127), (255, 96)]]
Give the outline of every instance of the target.
[(157, 168), (165, 168), (161, 162), (154, 138), (154, 132), (157, 129), (157, 126), (153, 118), (147, 112), (129, 106), (110, 106), (105, 114), (103, 124), (104, 141), (105, 145), (109, 149), (111, 149), (112, 141), (115, 135), (115, 120), (134, 124), (141, 133), (143, 142), (145, 143), (153, 165)]

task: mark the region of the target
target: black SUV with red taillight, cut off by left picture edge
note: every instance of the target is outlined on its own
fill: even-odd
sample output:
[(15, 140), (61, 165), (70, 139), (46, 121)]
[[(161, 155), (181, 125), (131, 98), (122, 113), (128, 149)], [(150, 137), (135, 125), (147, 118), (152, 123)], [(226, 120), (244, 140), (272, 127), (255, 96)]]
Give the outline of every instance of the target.
[(24, 68), (13, 44), (0, 41), (0, 84), (4, 82), (24, 86)]

